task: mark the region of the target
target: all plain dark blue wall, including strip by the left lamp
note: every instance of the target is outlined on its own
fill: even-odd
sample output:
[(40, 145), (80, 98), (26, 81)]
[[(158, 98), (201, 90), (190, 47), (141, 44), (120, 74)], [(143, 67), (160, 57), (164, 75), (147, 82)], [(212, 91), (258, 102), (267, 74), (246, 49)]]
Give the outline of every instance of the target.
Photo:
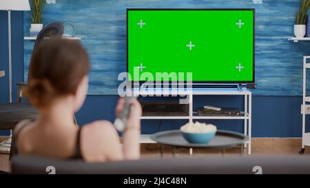
[[(7, 12), (0, 11), (0, 70), (8, 73), (8, 32)], [(23, 14), (12, 12), (12, 52), (13, 83), (23, 81)], [(8, 74), (0, 78), (0, 103), (8, 102)], [(302, 85), (300, 85), (302, 87)], [(16, 87), (14, 87), (14, 96)], [(114, 120), (114, 107), (118, 96), (87, 96), (82, 109), (76, 114), (79, 124), (97, 119)], [(14, 97), (15, 99), (15, 97)], [(300, 96), (253, 96), (253, 136), (254, 137), (300, 137), (302, 132)], [(198, 105), (225, 105), (242, 107), (242, 98), (231, 96), (198, 96), (194, 98), (194, 107)], [(241, 105), (240, 105), (241, 104)], [(220, 129), (242, 132), (242, 121), (208, 121), (216, 123)], [(143, 134), (149, 134), (158, 128), (159, 121), (143, 121)], [(161, 130), (176, 129), (185, 121), (163, 121)], [(3, 134), (3, 132), (0, 132)]]

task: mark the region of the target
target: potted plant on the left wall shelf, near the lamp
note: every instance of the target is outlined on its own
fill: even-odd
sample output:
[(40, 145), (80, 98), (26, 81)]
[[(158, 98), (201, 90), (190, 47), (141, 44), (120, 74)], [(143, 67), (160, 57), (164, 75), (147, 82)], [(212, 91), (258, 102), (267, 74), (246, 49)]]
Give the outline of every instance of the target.
[(31, 28), (30, 28), (30, 35), (37, 36), (39, 32), (43, 28), (43, 16), (42, 12), (44, 9), (45, 0), (32, 0), (31, 1)]

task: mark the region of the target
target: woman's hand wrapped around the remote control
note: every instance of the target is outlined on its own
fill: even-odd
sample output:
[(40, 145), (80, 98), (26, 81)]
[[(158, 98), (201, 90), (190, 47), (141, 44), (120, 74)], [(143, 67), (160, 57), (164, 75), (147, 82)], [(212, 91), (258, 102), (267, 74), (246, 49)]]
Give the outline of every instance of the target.
[[(116, 105), (116, 116), (118, 116), (121, 111), (123, 110), (125, 104), (125, 99), (120, 98)], [(140, 128), (140, 118), (142, 114), (142, 107), (141, 104), (134, 98), (130, 102), (130, 114), (128, 115), (127, 119), (127, 126), (134, 126)]]

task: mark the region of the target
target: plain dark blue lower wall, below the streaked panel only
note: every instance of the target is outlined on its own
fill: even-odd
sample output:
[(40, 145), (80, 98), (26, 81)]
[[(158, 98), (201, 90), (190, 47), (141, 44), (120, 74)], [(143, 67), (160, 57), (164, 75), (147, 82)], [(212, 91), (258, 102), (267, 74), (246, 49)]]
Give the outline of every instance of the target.
[[(114, 110), (118, 96), (87, 96), (82, 109), (76, 114), (80, 124), (105, 118), (114, 121)], [(253, 96), (252, 136), (254, 137), (300, 137), (302, 116), (301, 96)], [(194, 108), (203, 104), (243, 108), (240, 96), (194, 96)], [(143, 134), (156, 132), (159, 120), (143, 120)], [(186, 121), (164, 120), (161, 130), (177, 129)], [(243, 121), (205, 121), (218, 125), (219, 129), (243, 131)]]

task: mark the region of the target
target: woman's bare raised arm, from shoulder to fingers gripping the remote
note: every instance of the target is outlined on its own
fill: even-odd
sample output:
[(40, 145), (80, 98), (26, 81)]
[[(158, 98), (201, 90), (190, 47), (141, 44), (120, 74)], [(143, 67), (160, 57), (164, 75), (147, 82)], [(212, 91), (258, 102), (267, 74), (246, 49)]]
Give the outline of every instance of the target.
[[(116, 113), (121, 112), (125, 101), (121, 98)], [(118, 133), (109, 121), (96, 121), (81, 131), (81, 152), (87, 162), (107, 160), (134, 160), (140, 158), (140, 117), (141, 105), (134, 100), (131, 104), (127, 127), (123, 132), (123, 147)]]

